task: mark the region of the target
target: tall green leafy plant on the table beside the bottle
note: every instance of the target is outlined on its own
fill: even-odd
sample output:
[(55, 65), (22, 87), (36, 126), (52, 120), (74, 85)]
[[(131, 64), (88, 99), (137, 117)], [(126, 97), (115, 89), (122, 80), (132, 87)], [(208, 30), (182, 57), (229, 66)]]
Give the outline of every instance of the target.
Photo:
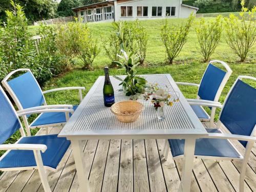
[(144, 93), (146, 80), (136, 75), (136, 67), (139, 65), (139, 57), (133, 52), (130, 53), (129, 56), (123, 50), (122, 53), (123, 56), (119, 55), (119, 57), (123, 62), (115, 61), (120, 68), (125, 69), (127, 75), (124, 79), (115, 76), (116, 79), (121, 81), (119, 85), (122, 86), (122, 91), (126, 96)]

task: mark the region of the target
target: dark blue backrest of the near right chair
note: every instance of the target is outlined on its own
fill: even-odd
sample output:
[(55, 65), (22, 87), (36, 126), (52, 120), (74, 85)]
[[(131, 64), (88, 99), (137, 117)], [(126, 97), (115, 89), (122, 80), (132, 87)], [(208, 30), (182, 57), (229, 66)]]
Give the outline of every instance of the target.
[[(231, 134), (251, 136), (256, 124), (256, 89), (241, 79), (254, 77), (239, 76), (230, 89), (220, 114), (221, 123)], [(240, 141), (246, 146), (246, 141)]]

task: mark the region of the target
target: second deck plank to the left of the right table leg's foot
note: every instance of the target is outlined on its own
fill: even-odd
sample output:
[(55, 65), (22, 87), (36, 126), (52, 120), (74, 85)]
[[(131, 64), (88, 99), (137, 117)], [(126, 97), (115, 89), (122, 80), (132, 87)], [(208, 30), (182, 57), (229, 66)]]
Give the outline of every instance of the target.
[(146, 139), (145, 148), (150, 189), (151, 191), (166, 191), (156, 140)]

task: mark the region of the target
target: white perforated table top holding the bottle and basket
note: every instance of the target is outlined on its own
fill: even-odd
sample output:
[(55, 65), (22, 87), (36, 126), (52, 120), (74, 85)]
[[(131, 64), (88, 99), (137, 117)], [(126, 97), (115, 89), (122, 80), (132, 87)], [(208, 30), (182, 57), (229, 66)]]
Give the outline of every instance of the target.
[[(166, 107), (166, 119), (157, 119), (156, 110), (148, 100), (139, 99), (145, 109), (138, 120), (132, 123), (122, 123), (112, 114), (110, 108), (103, 103), (104, 77), (100, 76), (93, 87), (78, 106), (67, 124), (60, 132), (60, 137), (81, 137), (82, 139), (99, 138), (186, 138), (189, 136), (207, 135), (203, 125), (180, 92), (169, 74), (142, 75), (148, 83), (158, 83), (166, 91), (180, 94), (180, 101), (172, 107)], [(124, 76), (120, 76), (124, 78)], [(118, 90), (119, 80), (111, 77), (115, 90), (115, 102), (129, 100)]]

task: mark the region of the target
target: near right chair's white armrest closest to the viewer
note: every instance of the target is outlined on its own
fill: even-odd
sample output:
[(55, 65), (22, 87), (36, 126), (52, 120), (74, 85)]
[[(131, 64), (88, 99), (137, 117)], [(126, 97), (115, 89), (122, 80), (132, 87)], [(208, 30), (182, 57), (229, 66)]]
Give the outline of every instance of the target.
[(208, 139), (231, 139), (231, 140), (242, 140), (242, 141), (253, 141), (256, 142), (256, 137), (245, 136), (245, 135), (234, 135), (228, 133), (208, 133), (207, 136), (201, 138)]

